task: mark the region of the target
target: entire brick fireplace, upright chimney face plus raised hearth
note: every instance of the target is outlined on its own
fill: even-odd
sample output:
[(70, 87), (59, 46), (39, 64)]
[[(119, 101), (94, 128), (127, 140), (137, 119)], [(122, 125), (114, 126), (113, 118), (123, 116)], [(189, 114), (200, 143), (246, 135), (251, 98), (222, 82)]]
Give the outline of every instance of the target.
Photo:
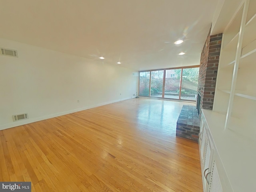
[(202, 108), (212, 110), (218, 72), (222, 34), (210, 36), (210, 31), (201, 53), (196, 106), (183, 105), (176, 126), (176, 136), (195, 141), (198, 141)]

